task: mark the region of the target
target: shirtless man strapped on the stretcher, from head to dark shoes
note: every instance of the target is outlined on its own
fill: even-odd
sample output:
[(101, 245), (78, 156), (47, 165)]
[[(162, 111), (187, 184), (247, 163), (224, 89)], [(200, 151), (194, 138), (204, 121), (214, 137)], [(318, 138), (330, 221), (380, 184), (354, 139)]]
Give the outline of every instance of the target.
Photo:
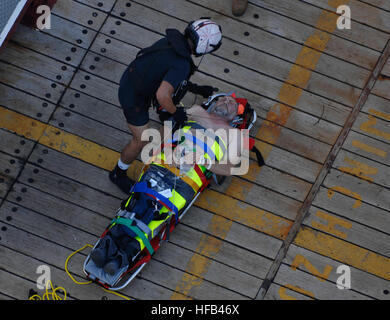
[[(188, 122), (175, 132), (144, 168), (120, 216), (92, 251), (98, 268), (110, 275), (123, 269), (171, 219), (178, 219), (202, 190), (210, 173), (231, 175), (241, 159), (241, 130), (231, 126), (243, 106), (231, 97), (218, 98), (208, 110), (188, 109)], [(167, 146), (170, 148), (167, 148)]]

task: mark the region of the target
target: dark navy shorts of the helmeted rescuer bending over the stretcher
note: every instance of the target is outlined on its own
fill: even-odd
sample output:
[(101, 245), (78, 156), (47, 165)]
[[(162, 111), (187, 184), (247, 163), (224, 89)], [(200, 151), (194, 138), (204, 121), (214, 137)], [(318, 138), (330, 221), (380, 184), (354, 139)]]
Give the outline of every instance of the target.
[(130, 65), (120, 80), (118, 97), (126, 121), (133, 126), (143, 126), (149, 122), (151, 97), (138, 93), (137, 81), (139, 79)]

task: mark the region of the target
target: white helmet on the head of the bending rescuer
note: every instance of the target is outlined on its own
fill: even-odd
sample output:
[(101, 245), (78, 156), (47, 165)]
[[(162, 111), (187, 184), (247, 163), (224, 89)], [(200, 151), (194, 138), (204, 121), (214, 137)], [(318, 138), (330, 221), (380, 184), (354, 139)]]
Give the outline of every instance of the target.
[(222, 29), (209, 18), (191, 21), (184, 35), (194, 44), (193, 54), (196, 57), (219, 49), (222, 44)]

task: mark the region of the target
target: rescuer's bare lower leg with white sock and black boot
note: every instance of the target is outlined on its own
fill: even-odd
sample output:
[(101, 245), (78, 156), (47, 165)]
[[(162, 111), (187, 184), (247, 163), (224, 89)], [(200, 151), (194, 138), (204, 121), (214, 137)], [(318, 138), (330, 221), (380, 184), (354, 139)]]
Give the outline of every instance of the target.
[(133, 137), (123, 148), (118, 164), (110, 172), (110, 180), (115, 183), (123, 192), (129, 194), (134, 181), (127, 176), (127, 169), (137, 158), (147, 141), (141, 141), (142, 132), (149, 128), (148, 124), (143, 126), (133, 126), (128, 124)]

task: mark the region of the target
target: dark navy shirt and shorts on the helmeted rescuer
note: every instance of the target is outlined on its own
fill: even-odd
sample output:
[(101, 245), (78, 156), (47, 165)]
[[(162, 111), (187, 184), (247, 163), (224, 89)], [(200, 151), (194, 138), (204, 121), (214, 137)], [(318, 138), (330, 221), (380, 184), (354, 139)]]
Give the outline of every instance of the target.
[(187, 39), (180, 31), (167, 29), (166, 36), (141, 50), (122, 75), (118, 97), (127, 122), (134, 126), (148, 123), (148, 109), (161, 82), (169, 82), (176, 91), (194, 70)]

